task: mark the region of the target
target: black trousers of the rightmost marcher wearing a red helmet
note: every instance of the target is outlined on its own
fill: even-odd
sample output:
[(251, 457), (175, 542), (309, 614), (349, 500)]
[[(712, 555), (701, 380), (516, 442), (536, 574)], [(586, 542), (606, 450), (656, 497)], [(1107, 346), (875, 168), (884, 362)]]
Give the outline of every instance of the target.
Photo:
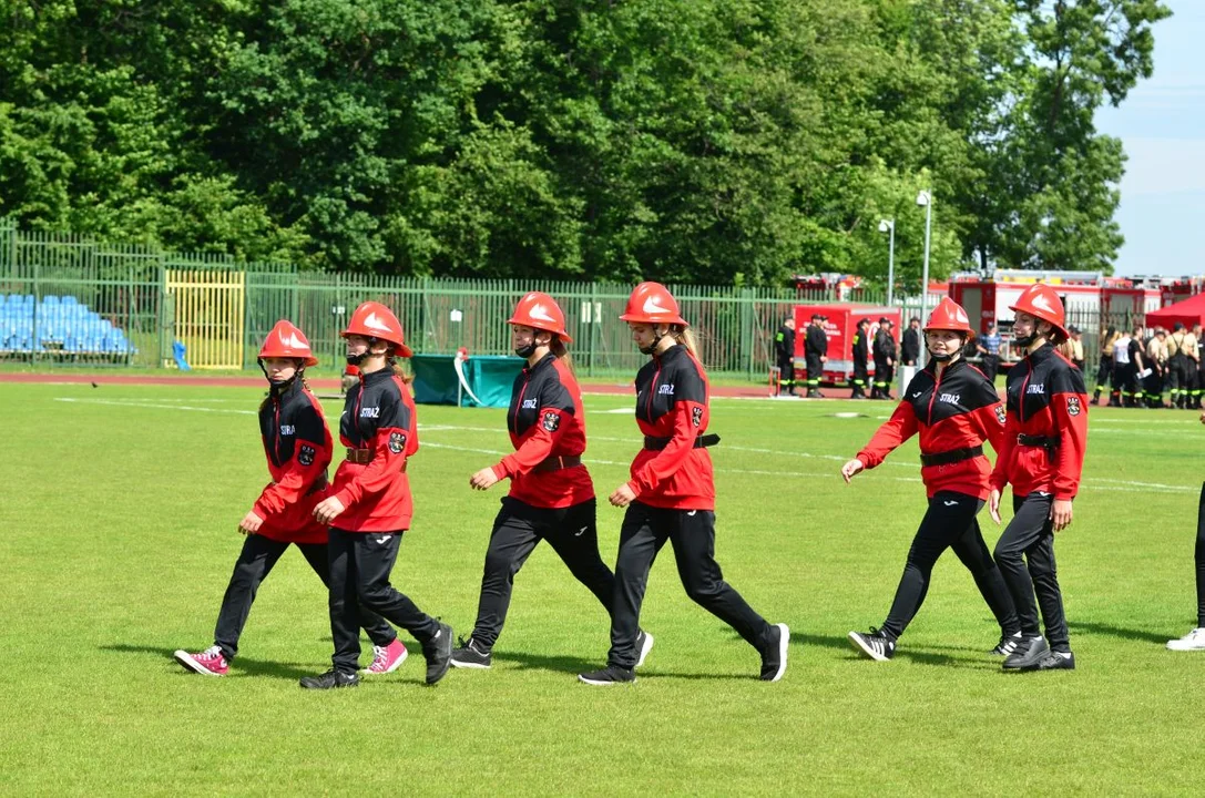
[(1050, 517), (1053, 501), (1054, 498), (1045, 493), (1012, 497), (1016, 515), (995, 544), (995, 564), (1004, 574), (1004, 582), (1012, 594), (1022, 634), (1041, 634), (1038, 626), (1038, 608), (1041, 606), (1051, 649), (1070, 651), (1066, 617), (1063, 615), (1063, 592), (1058, 586), (1058, 569), (1054, 564), (1054, 522)]

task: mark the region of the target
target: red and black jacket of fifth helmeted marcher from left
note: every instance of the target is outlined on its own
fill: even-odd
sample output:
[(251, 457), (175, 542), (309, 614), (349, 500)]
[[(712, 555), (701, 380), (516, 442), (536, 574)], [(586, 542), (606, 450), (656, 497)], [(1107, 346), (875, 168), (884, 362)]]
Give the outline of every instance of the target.
[[(935, 375), (930, 362), (909, 382), (892, 417), (858, 452), (868, 469), (875, 468), (897, 446), (921, 434), (921, 454), (940, 456), (982, 446), (1000, 452), (1004, 439), (1004, 403), (983, 372), (962, 359)], [(987, 499), (992, 464), (984, 454), (957, 463), (921, 467), (921, 479), (929, 498), (940, 491), (954, 491)]]

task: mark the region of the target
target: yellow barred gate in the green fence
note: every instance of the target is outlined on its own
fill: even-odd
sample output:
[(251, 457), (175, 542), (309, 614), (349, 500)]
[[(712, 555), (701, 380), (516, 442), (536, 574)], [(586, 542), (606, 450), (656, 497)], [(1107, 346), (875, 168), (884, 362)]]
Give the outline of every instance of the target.
[(176, 340), (194, 369), (241, 369), (246, 272), (169, 269)]

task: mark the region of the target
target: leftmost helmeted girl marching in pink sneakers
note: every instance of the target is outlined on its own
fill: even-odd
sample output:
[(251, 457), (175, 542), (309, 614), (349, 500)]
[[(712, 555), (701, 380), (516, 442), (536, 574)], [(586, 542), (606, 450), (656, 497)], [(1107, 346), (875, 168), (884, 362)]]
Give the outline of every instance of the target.
[[(310, 517), (327, 487), (331, 453), (322, 406), (305, 385), (305, 368), (317, 364), (305, 335), (286, 321), (276, 323), (259, 350), (259, 368), (269, 385), (269, 395), (259, 406), (259, 429), (272, 481), (239, 522), (247, 539), (222, 597), (213, 646), (198, 653), (176, 652), (176, 662), (194, 673), (228, 673), (255, 592), (290, 544), (329, 586), (327, 528)], [(359, 623), (372, 639), (375, 652), (365, 673), (389, 673), (405, 661), (406, 646), (380, 616), (364, 611)]]

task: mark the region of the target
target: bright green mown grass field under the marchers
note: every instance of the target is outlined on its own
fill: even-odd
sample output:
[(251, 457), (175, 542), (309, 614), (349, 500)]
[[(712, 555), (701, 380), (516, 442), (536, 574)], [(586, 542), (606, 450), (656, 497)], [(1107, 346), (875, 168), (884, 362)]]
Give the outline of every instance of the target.
[[(1086, 480), (1058, 544), (1074, 673), (1001, 674), (984, 653), (995, 624), (951, 555), (895, 659), (856, 658), (845, 634), (883, 620), (923, 512), (915, 442), (845, 486), (840, 463), (890, 405), (717, 399), (717, 557), (757, 610), (790, 624), (782, 682), (756, 679), (757, 653), (684, 597), (665, 552), (639, 682), (577, 683), (604, 663), (607, 622), (543, 547), (518, 576), (493, 670), (428, 688), (416, 645), (394, 675), (315, 694), (296, 680), (329, 665), (325, 595), (296, 553), (264, 583), (231, 676), (171, 661), (210, 645), (235, 526), (266, 479), (260, 395), (0, 383), (0, 792), (1198, 790), (1205, 655), (1163, 647), (1194, 620), (1195, 413), (1092, 407)], [(587, 398), (604, 497), (636, 446), (628, 405)], [(869, 417), (833, 417), (847, 411)], [(419, 407), (419, 422), (394, 583), (468, 634), (505, 488), (475, 493), (468, 477), (509, 448), (504, 417)], [(619, 520), (604, 501), (610, 562)], [(994, 545), (999, 529), (981, 522)]]

